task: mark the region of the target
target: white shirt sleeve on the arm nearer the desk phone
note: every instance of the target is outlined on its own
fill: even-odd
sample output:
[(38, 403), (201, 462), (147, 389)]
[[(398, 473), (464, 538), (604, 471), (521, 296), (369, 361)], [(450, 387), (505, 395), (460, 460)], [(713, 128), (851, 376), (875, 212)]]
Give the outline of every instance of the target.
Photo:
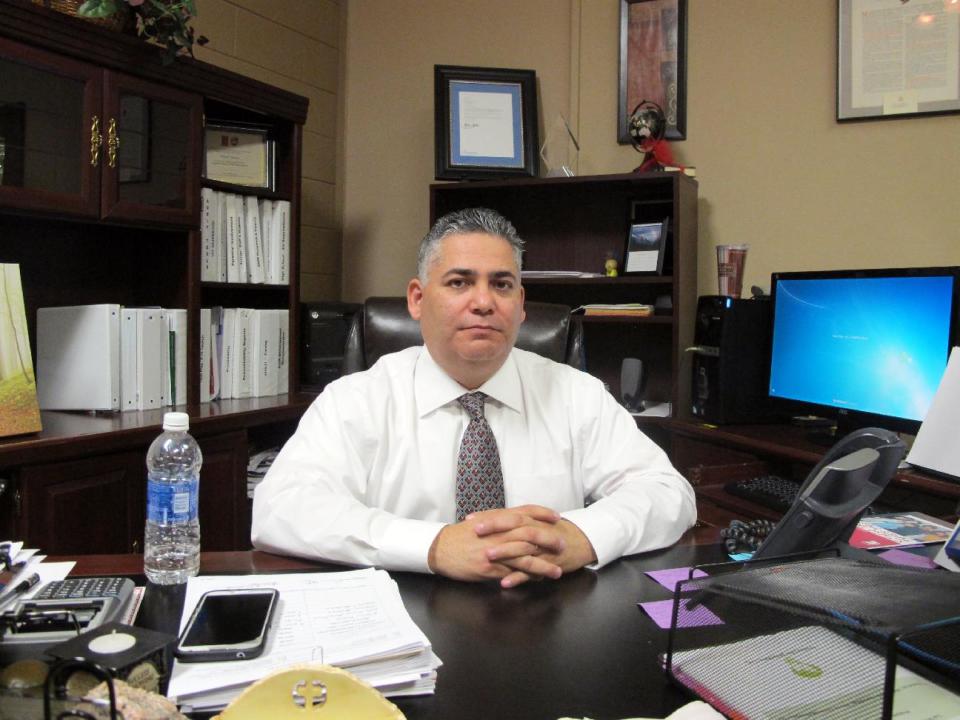
[(697, 519), (690, 483), (666, 453), (602, 389), (578, 392), (570, 403), (586, 507), (562, 513), (587, 536), (597, 555), (591, 567), (675, 543)]

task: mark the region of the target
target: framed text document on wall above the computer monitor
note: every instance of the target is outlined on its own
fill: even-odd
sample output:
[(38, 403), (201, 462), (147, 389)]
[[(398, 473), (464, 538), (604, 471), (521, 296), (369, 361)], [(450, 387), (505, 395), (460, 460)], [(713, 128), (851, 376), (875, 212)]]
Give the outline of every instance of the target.
[(838, 0), (837, 120), (960, 112), (960, 10)]

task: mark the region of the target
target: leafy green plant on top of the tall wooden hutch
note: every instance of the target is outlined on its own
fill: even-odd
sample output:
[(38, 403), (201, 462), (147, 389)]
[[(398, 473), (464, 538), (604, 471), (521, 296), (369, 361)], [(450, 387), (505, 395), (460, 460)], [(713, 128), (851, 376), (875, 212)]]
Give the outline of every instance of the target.
[(77, 8), (77, 15), (91, 18), (130, 13), (137, 21), (137, 35), (164, 47), (164, 65), (181, 52), (193, 56), (193, 44), (207, 42), (190, 27), (190, 20), (197, 14), (193, 0), (85, 0)]

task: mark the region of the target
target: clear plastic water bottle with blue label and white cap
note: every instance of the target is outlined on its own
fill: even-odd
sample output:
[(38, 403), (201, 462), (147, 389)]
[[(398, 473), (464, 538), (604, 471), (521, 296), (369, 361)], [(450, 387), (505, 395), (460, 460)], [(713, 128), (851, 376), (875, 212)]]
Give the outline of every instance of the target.
[(200, 569), (200, 465), (203, 454), (187, 432), (190, 416), (169, 412), (147, 451), (147, 524), (143, 571), (160, 585), (187, 581)]

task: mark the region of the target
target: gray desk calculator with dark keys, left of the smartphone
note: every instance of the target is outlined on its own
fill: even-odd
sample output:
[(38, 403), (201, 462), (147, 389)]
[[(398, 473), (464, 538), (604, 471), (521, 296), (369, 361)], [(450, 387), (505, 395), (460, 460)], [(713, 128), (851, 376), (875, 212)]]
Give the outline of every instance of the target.
[(82, 632), (119, 620), (133, 600), (128, 578), (84, 577), (54, 580), (34, 597), (0, 615), (0, 665), (43, 650)]

